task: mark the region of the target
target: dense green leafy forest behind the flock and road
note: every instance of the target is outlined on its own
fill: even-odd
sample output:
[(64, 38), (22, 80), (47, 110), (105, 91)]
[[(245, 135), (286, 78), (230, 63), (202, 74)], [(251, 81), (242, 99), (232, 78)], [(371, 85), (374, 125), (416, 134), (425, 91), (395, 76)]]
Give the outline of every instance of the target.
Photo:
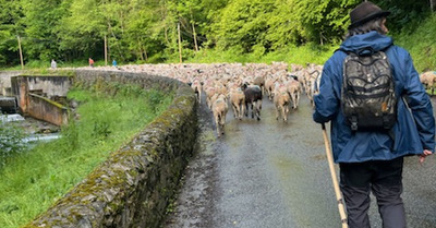
[[(0, 67), (24, 62), (179, 61), (205, 50), (258, 57), (339, 44), (361, 0), (0, 0)], [(392, 33), (432, 17), (435, 0), (374, 0)], [(180, 31), (179, 31), (180, 29)]]

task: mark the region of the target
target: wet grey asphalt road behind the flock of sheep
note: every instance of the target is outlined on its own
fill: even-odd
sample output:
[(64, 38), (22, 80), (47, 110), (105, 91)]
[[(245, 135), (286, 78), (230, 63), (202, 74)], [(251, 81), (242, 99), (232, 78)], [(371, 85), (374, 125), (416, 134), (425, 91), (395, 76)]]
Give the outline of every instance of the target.
[[(287, 123), (276, 120), (266, 97), (261, 121), (239, 121), (232, 113), (226, 134), (217, 139), (211, 112), (202, 101), (199, 149), (162, 227), (341, 227), (323, 133), (312, 121), (308, 99), (302, 96)], [(407, 158), (403, 182), (408, 227), (436, 227), (436, 157), (424, 166), (417, 157)], [(374, 197), (370, 219), (373, 228), (382, 228)]]

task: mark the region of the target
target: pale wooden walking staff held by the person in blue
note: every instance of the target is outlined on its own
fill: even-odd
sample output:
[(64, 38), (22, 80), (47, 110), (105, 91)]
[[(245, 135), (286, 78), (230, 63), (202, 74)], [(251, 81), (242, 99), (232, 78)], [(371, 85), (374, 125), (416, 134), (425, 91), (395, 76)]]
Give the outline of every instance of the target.
[(328, 167), (330, 168), (330, 175), (331, 175), (331, 180), (334, 182), (336, 200), (338, 202), (339, 215), (340, 215), (341, 221), (342, 221), (342, 228), (348, 228), (346, 207), (343, 205), (342, 194), (339, 190), (338, 178), (336, 177), (334, 157), (332, 157), (331, 149), (330, 149), (330, 143), (329, 143), (328, 136), (327, 136), (326, 125), (324, 123), (322, 123), (322, 125), (323, 125), (324, 144), (326, 145)]

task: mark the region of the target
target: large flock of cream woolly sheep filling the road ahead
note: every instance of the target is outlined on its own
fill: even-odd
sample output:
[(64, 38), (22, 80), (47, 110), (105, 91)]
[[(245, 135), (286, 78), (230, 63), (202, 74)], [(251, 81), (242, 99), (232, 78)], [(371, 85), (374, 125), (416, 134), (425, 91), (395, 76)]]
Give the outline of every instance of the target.
[[(113, 70), (112, 67), (94, 68)], [(296, 109), (304, 93), (312, 105), (318, 92), (323, 65), (265, 63), (215, 63), (215, 64), (140, 64), (117, 67), (119, 71), (146, 72), (172, 77), (189, 84), (198, 103), (206, 97), (206, 105), (214, 113), (217, 134), (225, 133), (229, 106), (235, 119), (245, 117), (261, 120), (262, 100), (274, 103), (277, 120), (288, 120), (290, 108)], [(420, 75), (426, 88), (434, 91), (436, 72)]]

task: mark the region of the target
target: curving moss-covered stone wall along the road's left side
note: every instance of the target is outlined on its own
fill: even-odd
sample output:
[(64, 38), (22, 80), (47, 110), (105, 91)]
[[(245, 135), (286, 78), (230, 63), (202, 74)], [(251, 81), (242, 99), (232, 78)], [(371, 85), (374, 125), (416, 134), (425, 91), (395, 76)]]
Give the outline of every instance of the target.
[(177, 95), (128, 145), (25, 227), (159, 227), (194, 151), (195, 95), (178, 81), (147, 74), (77, 71), (74, 79), (83, 86), (109, 81), (175, 91)]

